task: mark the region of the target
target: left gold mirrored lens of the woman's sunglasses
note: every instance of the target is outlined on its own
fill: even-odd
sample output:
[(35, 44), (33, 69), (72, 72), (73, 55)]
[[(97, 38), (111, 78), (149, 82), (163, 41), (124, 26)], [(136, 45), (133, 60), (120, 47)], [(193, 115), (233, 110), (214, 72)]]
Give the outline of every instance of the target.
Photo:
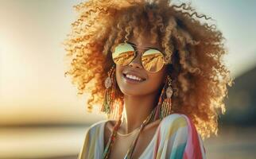
[(135, 51), (132, 45), (122, 43), (114, 48), (112, 58), (115, 64), (125, 66), (134, 59)]

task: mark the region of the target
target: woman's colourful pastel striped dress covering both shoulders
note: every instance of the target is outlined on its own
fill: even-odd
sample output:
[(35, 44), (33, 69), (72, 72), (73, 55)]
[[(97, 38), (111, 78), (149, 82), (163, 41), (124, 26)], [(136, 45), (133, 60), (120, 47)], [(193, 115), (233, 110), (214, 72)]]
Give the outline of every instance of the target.
[[(91, 125), (85, 135), (79, 159), (102, 159), (104, 126), (108, 120)], [(153, 139), (139, 159), (205, 159), (204, 143), (192, 120), (184, 114), (162, 119)]]

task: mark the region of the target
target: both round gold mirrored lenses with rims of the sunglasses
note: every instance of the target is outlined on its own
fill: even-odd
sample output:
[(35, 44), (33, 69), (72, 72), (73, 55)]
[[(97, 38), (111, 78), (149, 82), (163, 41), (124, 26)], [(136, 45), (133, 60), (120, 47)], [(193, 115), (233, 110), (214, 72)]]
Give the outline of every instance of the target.
[[(112, 52), (115, 64), (126, 66), (134, 60), (136, 51), (129, 43), (118, 44)], [(165, 64), (165, 56), (157, 49), (149, 48), (142, 53), (142, 66), (148, 72), (159, 72)]]

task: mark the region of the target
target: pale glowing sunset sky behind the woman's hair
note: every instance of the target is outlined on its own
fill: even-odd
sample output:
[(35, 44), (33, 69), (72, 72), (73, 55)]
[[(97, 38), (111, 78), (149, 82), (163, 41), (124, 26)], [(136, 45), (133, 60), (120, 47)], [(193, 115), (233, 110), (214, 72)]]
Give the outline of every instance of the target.
[[(64, 78), (61, 42), (76, 18), (79, 0), (0, 0), (0, 126), (85, 123), (105, 118), (86, 112), (86, 96)], [(175, 1), (178, 2), (178, 1)], [(215, 19), (227, 39), (224, 62), (238, 77), (256, 66), (256, 1), (192, 2)], [(96, 114), (96, 115), (95, 115)]]

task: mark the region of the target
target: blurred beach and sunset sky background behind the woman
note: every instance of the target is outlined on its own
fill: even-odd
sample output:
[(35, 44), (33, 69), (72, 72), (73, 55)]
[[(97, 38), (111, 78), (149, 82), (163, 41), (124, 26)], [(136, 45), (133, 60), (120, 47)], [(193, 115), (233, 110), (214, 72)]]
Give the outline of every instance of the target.
[[(87, 127), (106, 119), (86, 111), (86, 95), (64, 77), (61, 42), (79, 0), (0, 0), (0, 158), (77, 158)], [(178, 2), (178, 1), (176, 1)], [(226, 37), (235, 78), (209, 159), (256, 158), (256, 1), (192, 2)]]

